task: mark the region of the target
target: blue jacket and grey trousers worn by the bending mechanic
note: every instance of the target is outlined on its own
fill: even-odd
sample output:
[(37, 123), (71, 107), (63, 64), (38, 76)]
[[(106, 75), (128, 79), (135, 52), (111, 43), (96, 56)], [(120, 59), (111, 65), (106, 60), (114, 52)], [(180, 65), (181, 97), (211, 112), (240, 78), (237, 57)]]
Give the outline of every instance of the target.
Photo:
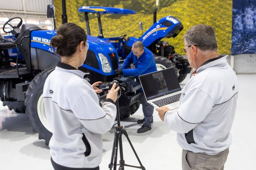
[[(134, 64), (135, 68), (127, 69), (128, 67), (130, 67), (131, 63)], [(123, 69), (124, 76), (140, 76), (143, 74), (157, 71), (153, 53), (145, 47), (143, 54), (139, 58), (137, 58), (131, 51), (130, 54), (126, 57), (120, 69)], [(147, 103), (145, 95), (143, 95), (140, 102), (142, 104), (142, 110), (145, 118), (143, 124), (151, 127), (151, 119), (153, 117), (154, 107), (151, 104)]]

